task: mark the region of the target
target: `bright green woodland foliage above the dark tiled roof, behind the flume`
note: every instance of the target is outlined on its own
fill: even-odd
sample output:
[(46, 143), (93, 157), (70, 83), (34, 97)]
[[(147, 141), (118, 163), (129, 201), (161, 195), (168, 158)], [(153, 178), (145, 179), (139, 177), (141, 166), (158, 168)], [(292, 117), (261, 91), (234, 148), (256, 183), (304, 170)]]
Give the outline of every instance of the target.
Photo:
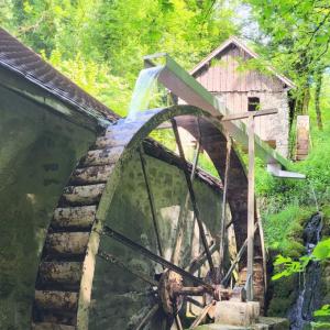
[(2, 1), (2, 26), (121, 114), (144, 55), (191, 68), (238, 31), (223, 0)]

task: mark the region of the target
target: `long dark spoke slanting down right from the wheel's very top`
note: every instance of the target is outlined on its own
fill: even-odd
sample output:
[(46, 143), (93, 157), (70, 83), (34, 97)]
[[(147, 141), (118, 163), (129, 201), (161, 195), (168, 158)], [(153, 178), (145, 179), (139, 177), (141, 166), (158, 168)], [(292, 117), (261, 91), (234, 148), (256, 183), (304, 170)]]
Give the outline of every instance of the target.
[[(173, 127), (173, 132), (174, 132), (174, 135), (175, 135), (176, 144), (177, 144), (177, 147), (178, 147), (178, 151), (179, 151), (179, 157), (180, 157), (183, 164), (186, 164), (185, 153), (184, 153), (184, 148), (183, 148), (183, 145), (182, 145), (180, 138), (179, 138), (177, 123), (176, 123), (175, 119), (172, 119), (170, 121), (172, 121), (172, 127)], [(205, 230), (204, 230), (204, 227), (202, 227), (202, 221), (200, 220), (199, 209), (197, 207), (196, 196), (195, 196), (195, 191), (194, 191), (193, 184), (191, 184), (191, 180), (190, 180), (189, 172), (186, 167), (184, 169), (184, 174), (185, 174), (185, 177), (186, 177), (186, 182), (187, 182), (187, 186), (188, 186), (188, 191), (189, 191), (190, 201), (191, 201), (191, 205), (193, 205), (193, 210), (194, 210), (194, 213), (195, 213), (195, 218), (196, 218), (196, 221), (198, 223), (201, 242), (202, 242), (204, 249), (206, 251), (206, 255), (207, 255), (207, 260), (208, 260), (208, 263), (209, 263), (209, 266), (210, 266), (210, 271), (213, 272), (215, 265), (213, 265), (212, 256), (211, 256), (211, 253), (209, 251), (208, 241), (207, 241)]]

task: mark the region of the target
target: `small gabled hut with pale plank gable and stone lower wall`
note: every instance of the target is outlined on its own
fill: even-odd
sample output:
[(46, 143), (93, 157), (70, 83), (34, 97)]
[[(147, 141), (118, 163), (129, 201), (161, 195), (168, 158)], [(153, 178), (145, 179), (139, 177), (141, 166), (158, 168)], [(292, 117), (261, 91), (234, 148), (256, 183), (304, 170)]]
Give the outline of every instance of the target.
[(258, 58), (238, 37), (230, 37), (190, 74), (210, 92), (219, 96), (228, 113), (276, 108), (277, 114), (255, 119), (255, 130), (284, 156), (288, 154), (288, 90), (295, 85), (268, 66), (264, 72), (248, 69), (248, 61)]

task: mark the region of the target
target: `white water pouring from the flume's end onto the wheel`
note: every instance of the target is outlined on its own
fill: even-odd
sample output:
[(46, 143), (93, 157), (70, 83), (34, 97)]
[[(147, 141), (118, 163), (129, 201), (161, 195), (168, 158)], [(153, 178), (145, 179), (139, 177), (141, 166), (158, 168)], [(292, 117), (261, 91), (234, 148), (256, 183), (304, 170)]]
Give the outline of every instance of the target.
[(154, 66), (140, 72), (133, 90), (127, 121), (135, 120), (141, 110), (148, 108), (153, 89), (162, 69), (163, 66)]

